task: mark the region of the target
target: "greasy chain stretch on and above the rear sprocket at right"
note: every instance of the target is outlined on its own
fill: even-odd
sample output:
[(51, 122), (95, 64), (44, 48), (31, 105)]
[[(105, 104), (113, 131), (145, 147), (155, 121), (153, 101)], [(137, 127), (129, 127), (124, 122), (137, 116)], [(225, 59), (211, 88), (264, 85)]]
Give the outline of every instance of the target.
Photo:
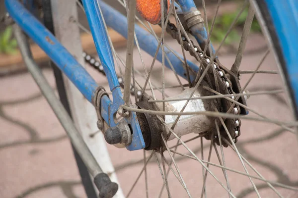
[[(176, 26), (170, 22), (168, 22), (167, 26), (166, 26), (166, 32), (173, 38), (175, 39), (180, 45), (180, 38), (179, 38), (179, 32), (178, 29), (176, 28)], [(192, 43), (195, 51), (191, 48), (191, 44), (187, 41), (186, 37), (184, 36), (184, 34), (180, 31), (181, 37), (182, 37), (182, 46), (186, 51), (189, 51), (190, 55), (192, 55), (193, 57), (195, 57), (199, 62), (201, 62), (201, 64), (204, 64), (204, 66), (206, 67), (210, 61), (211, 58), (208, 57), (205, 54), (205, 57), (203, 58), (203, 51), (201, 50), (200, 47), (196, 46), (194, 44), (193, 41), (190, 40), (190, 42)], [(196, 54), (198, 54), (198, 56), (196, 56)], [(198, 59), (198, 57), (200, 59)], [(214, 69), (213, 69), (214, 68)], [(211, 67), (208, 72), (213, 74), (213, 72), (215, 71), (216, 74), (216, 78), (219, 84), (219, 88), (220, 88), (220, 93), (225, 95), (225, 94), (235, 94), (233, 89), (232, 89), (232, 83), (229, 80), (228, 76), (225, 74), (224, 69), (221, 68), (220, 64), (218, 64), (217, 62), (214, 61), (213, 63), (213, 68)], [(202, 70), (201, 70), (202, 71)], [(212, 85), (210, 85), (211, 87), (216, 87), (215, 86), (215, 78), (212, 78), (214, 81), (211, 82)], [(206, 82), (207, 81), (207, 75), (204, 77), (204, 80)], [(234, 96), (230, 97), (231, 99), (235, 99)], [(232, 106), (231, 101), (227, 100), (227, 99), (221, 99), (221, 103), (222, 105), (220, 105), (222, 108), (220, 109), (221, 112), (227, 112), (227, 110)], [(235, 104), (233, 107), (233, 113), (234, 114), (240, 114), (240, 106)], [(240, 126), (241, 126), (241, 121), (240, 119), (225, 119), (224, 121), (233, 141), (236, 143), (237, 142), (237, 138), (240, 136)], [(228, 140), (228, 137), (225, 133), (225, 130), (223, 128), (223, 126), (221, 127), (221, 136), (224, 136), (225, 139)], [(217, 134), (217, 133), (215, 133)], [(208, 136), (205, 136), (206, 139), (211, 139), (211, 134), (209, 133)], [(216, 135), (216, 142), (217, 144), (219, 144), (219, 140), (218, 137)], [(223, 145), (225, 147), (227, 147), (227, 145), (225, 143), (223, 143)]]

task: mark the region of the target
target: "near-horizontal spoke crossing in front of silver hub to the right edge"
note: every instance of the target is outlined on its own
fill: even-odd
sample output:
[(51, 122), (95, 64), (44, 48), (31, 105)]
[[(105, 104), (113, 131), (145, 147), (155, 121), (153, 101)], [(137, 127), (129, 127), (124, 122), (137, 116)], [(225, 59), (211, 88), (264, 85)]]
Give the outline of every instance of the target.
[(207, 115), (211, 117), (223, 117), (223, 118), (239, 118), (243, 120), (254, 120), (259, 122), (268, 122), (268, 123), (275, 123), (275, 124), (281, 124), (285, 126), (298, 126), (298, 122), (291, 121), (291, 122), (283, 122), (276, 119), (265, 119), (260, 117), (253, 117), (253, 116), (241, 116), (231, 113), (222, 113), (222, 112), (215, 112), (215, 111), (193, 111), (193, 112), (175, 112), (175, 111), (154, 111), (154, 110), (147, 110), (147, 109), (138, 109), (133, 108), (125, 105), (121, 105), (122, 108), (128, 110), (128, 111), (135, 111), (137, 113), (148, 113), (152, 115)]

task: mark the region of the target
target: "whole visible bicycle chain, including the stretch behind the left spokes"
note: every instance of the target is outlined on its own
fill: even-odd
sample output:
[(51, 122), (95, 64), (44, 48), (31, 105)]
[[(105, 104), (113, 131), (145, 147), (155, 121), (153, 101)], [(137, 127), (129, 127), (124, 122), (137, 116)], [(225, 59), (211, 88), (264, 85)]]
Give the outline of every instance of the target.
[[(174, 24), (168, 22), (168, 24), (166, 26), (166, 32), (169, 35), (171, 35), (171, 37), (173, 39), (175, 39), (181, 45), (180, 39), (179, 39), (178, 29), (176, 28), (176, 26)], [(184, 34), (182, 32), (181, 32), (181, 36), (182, 36), (182, 43), (183, 43), (182, 46), (183, 46), (183, 48), (185, 50), (189, 51), (190, 55), (192, 55), (193, 57), (195, 57), (198, 60), (197, 56), (195, 55), (195, 52), (191, 48), (190, 43), (186, 40), (186, 37), (184, 36)], [(200, 57), (200, 59), (198, 61), (201, 61), (204, 64), (204, 66), (206, 67), (210, 63), (211, 58), (208, 57), (206, 54), (205, 54), (205, 57), (203, 58), (203, 51), (198, 46), (195, 46), (193, 41), (190, 41), (190, 42), (192, 43), (196, 53), (198, 54), (198, 57)], [(101, 65), (101, 63), (99, 61), (97, 61), (94, 57), (92, 57), (90, 54), (87, 54), (86, 52), (83, 52), (82, 56), (89, 65), (91, 65), (93, 68), (95, 68), (101, 74), (105, 75), (103, 66)], [(215, 73), (216, 78), (217, 78), (217, 81), (218, 81), (219, 87), (220, 87), (219, 92), (221, 94), (235, 94), (233, 89), (232, 89), (231, 81), (225, 75), (225, 72), (220, 67), (220, 65), (217, 62), (214, 62), (213, 63), (213, 68), (211, 68), (208, 72), (211, 73), (211, 74), (213, 74), (213, 71), (216, 72)], [(206, 77), (205, 77), (205, 79), (206, 79)], [(122, 77), (118, 76), (118, 82), (120, 84), (120, 87), (124, 88), (124, 83), (123, 83), (123, 78)], [(215, 87), (215, 80), (212, 81), (211, 83), (212, 83), (212, 85), (210, 85), (210, 86)], [(130, 93), (133, 96), (135, 95), (135, 90), (134, 90), (134, 87), (132, 85), (130, 87)], [(140, 90), (137, 90), (137, 97), (140, 98), (141, 95), (142, 95), (142, 92)], [(234, 96), (231, 96), (230, 98), (233, 99), (233, 100), (235, 99)], [(230, 108), (230, 106), (232, 105), (232, 102), (227, 100), (227, 99), (221, 99), (221, 103), (223, 104), (223, 105), (220, 105), (220, 107), (221, 107), (220, 111), (221, 112), (226, 112)], [(233, 110), (234, 114), (240, 114), (239, 105), (235, 104), (232, 110)], [(237, 138), (240, 136), (240, 126), (241, 126), (240, 119), (230, 119), (229, 118), (229, 119), (225, 119), (224, 123), (225, 123), (225, 125), (226, 125), (232, 139), (236, 143)], [(223, 136), (225, 139), (228, 140), (228, 137), (227, 137), (223, 127), (221, 127), (220, 131), (221, 131), (221, 136)], [(217, 135), (215, 137), (216, 137), (217, 144), (219, 144), (219, 140), (218, 140)], [(211, 134), (209, 133), (208, 135), (205, 136), (205, 138), (210, 140), (211, 139)], [(222, 144), (223, 144), (224, 147), (227, 147), (227, 145), (224, 142)]]

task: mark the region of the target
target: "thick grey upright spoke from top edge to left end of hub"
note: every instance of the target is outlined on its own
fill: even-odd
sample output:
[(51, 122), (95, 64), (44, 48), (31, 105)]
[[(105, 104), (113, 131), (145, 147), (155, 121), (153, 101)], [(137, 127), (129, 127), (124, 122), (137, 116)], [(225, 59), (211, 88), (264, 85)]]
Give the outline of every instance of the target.
[(132, 68), (134, 64), (134, 42), (135, 42), (135, 12), (136, 12), (136, 0), (128, 1), (129, 11), (127, 12), (128, 19), (128, 33), (127, 33), (127, 52), (126, 52), (126, 64), (125, 64), (125, 76), (124, 76), (124, 93), (123, 100), (129, 105), (130, 99), (130, 86), (132, 77)]

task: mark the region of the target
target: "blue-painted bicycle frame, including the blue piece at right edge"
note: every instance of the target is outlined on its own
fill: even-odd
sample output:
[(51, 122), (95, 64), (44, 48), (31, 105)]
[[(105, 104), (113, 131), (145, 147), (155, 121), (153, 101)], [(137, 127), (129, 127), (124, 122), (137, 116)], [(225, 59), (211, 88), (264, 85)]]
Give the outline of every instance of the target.
[[(298, 17), (295, 17), (297, 16), (298, 5), (297, 3), (295, 5), (295, 0), (285, 0), (283, 2), (284, 7), (292, 8), (292, 12), (287, 12), (286, 17), (286, 14), (282, 12), (282, 6), (279, 6), (276, 0), (264, 1), (270, 5), (268, 8), (270, 14), (273, 16), (273, 23), (277, 30), (285, 31), (291, 27), (291, 30), (287, 31), (287, 33), (289, 33), (287, 35), (279, 31), (277, 31), (277, 33), (279, 35), (278, 39), (281, 43), (283, 53), (286, 54), (284, 57), (286, 59), (288, 71), (290, 74), (293, 74), (290, 75), (290, 85), (295, 90), (295, 99), (296, 103), (298, 103), (298, 54), (296, 49), (289, 47), (293, 46), (293, 40), (291, 40), (291, 38), (295, 38), (290, 33), (295, 34), (298, 32)], [(113, 102), (107, 96), (103, 96), (101, 98), (101, 115), (105, 122), (107, 122), (110, 127), (113, 127), (116, 126), (114, 115), (116, 114), (119, 106), (124, 104), (124, 100), (115, 72), (113, 55), (109, 45), (107, 33), (104, 28), (103, 18), (105, 19), (107, 26), (113, 28), (124, 37), (127, 37), (127, 19), (125, 16), (101, 0), (82, 0), (82, 2), (89, 22), (95, 47), (98, 52), (101, 64), (104, 67), (113, 97)], [(187, 13), (195, 8), (193, 0), (178, 0), (178, 2), (180, 4), (179, 10), (182, 10), (183, 13)], [(41, 49), (48, 54), (53, 62), (55, 62), (62, 72), (66, 74), (66, 76), (74, 83), (76, 88), (83, 94), (83, 96), (88, 99), (88, 101), (92, 102), (98, 85), (86, 72), (86, 70), (69, 53), (69, 51), (65, 49), (59, 43), (59, 41), (18, 0), (5, 0), (5, 6), (13, 20), (38, 46), (40, 46)], [(100, 8), (103, 18), (101, 17)], [(150, 55), (154, 56), (158, 41), (156, 41), (156, 39), (149, 32), (145, 31), (138, 25), (135, 26), (135, 32), (140, 47)], [(203, 40), (207, 39), (205, 27), (201, 29), (194, 29), (192, 32), (197, 35), (196, 39), (199, 44), (200, 42), (203, 42)], [(298, 40), (295, 42), (297, 44)], [(297, 46), (298, 44), (296, 47)], [(212, 50), (214, 51), (213, 47)], [(186, 78), (184, 64), (180, 60), (183, 59), (183, 57), (180, 55), (179, 59), (166, 47), (165, 53), (169, 59), (169, 61), (165, 60), (165, 65), (171, 69), (171, 63), (176, 73), (181, 77)], [(157, 53), (157, 60), (161, 61), (161, 58), (161, 49), (159, 49)], [(199, 67), (194, 63), (187, 61), (187, 64), (193, 69), (193, 71), (199, 71)], [(195, 79), (194, 74), (191, 74), (190, 77), (191, 80)], [(126, 121), (131, 125), (133, 130), (133, 140), (127, 149), (136, 150), (145, 148), (145, 142), (136, 113), (132, 112), (129, 118), (124, 119), (126, 119)]]

